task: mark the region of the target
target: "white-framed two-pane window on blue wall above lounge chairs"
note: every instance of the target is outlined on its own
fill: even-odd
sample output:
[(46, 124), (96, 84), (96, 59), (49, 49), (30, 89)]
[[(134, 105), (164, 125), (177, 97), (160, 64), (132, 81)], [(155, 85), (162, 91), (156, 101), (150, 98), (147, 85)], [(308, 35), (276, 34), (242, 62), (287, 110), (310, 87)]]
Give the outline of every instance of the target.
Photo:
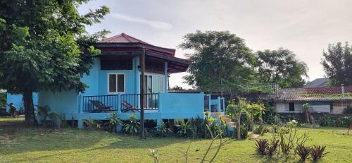
[(108, 93), (125, 92), (125, 73), (108, 73)]

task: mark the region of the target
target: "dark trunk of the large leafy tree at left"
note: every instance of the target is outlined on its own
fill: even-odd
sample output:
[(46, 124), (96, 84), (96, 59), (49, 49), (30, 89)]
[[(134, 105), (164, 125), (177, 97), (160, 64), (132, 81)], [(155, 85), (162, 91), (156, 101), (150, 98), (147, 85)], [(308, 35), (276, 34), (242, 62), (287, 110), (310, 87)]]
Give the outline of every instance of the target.
[(34, 126), (35, 117), (32, 90), (25, 90), (23, 92), (23, 102), (25, 104), (25, 125)]

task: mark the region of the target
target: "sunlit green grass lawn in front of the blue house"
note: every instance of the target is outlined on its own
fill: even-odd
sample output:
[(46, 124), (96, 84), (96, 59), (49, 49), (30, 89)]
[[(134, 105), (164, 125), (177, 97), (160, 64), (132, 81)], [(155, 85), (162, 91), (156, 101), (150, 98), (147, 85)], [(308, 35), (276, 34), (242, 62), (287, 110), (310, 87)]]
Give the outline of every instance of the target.
[[(191, 162), (200, 162), (210, 140), (182, 138), (148, 138), (116, 135), (105, 131), (76, 128), (51, 130), (25, 128), (23, 118), (0, 118), (0, 162), (153, 162), (147, 152), (158, 149), (161, 162), (184, 162), (180, 151), (189, 150)], [(352, 135), (346, 128), (304, 128), (310, 140), (306, 145), (327, 145), (330, 152), (322, 162), (352, 162)], [(270, 138), (270, 134), (264, 137)], [(267, 159), (255, 155), (253, 140), (227, 143), (215, 162), (283, 162), (283, 158)], [(214, 150), (212, 151), (214, 152)], [(291, 158), (289, 162), (296, 162)]]

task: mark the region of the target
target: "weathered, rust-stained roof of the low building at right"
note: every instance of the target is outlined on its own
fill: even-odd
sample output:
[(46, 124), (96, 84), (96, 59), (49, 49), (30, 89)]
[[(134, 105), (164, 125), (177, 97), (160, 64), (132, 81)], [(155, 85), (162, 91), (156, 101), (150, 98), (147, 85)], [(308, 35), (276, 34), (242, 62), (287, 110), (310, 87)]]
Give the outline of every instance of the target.
[(352, 87), (298, 87), (284, 88), (272, 93), (270, 98), (277, 101), (334, 101), (352, 100)]

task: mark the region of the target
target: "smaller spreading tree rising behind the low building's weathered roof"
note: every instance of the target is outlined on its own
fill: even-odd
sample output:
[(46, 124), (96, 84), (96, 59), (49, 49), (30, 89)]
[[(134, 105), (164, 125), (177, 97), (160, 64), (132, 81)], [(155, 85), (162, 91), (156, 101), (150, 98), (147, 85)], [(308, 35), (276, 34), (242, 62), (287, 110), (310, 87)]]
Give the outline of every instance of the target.
[(308, 77), (308, 67), (289, 49), (257, 52), (258, 82), (277, 83), (280, 87), (302, 87)]

